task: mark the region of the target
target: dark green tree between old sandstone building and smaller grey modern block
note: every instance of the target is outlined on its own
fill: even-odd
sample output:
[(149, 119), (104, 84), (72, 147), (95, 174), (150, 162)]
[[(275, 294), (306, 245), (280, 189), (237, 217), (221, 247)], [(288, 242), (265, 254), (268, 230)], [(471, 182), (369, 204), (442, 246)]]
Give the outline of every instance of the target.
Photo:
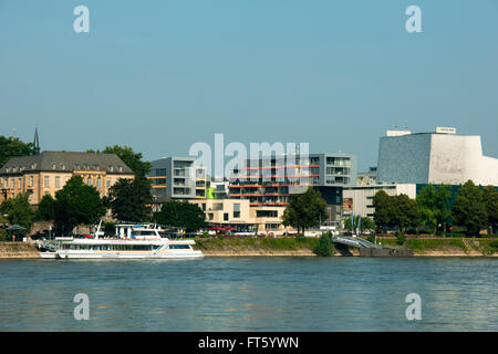
[(120, 178), (104, 201), (115, 219), (144, 221), (149, 214), (146, 206), (152, 202), (151, 185), (144, 178)]

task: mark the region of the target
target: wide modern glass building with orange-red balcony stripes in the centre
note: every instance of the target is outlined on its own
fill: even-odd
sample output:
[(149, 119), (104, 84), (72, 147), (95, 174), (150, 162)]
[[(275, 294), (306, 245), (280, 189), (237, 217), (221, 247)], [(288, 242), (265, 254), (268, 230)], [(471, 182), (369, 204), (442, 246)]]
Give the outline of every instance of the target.
[(341, 218), (342, 187), (356, 184), (356, 156), (349, 154), (284, 155), (247, 159), (230, 176), (229, 198), (249, 199), (259, 216), (281, 217), (291, 195), (310, 186), (325, 199), (331, 222)]

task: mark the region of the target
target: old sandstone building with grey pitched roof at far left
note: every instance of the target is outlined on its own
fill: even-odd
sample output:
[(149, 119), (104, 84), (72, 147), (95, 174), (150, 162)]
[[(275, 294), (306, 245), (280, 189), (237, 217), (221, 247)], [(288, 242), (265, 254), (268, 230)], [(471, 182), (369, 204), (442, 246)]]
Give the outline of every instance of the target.
[(54, 197), (72, 176), (82, 176), (105, 196), (120, 178), (134, 178), (134, 173), (115, 154), (42, 152), (12, 157), (0, 168), (0, 201), (30, 192), (30, 204), (38, 205), (44, 195)]

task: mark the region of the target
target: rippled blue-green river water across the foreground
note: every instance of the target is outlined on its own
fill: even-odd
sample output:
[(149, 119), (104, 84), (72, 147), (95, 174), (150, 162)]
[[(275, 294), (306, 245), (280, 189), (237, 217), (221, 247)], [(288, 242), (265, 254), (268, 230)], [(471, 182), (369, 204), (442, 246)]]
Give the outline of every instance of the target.
[(0, 260), (0, 331), (498, 331), (497, 280), (496, 258)]

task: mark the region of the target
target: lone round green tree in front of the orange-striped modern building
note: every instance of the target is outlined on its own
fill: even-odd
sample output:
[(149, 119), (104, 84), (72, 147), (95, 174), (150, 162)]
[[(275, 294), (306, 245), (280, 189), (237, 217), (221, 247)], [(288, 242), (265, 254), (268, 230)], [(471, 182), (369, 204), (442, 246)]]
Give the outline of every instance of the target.
[(310, 187), (303, 194), (293, 195), (283, 211), (283, 225), (304, 231), (320, 225), (326, 218), (326, 202), (320, 191)]

